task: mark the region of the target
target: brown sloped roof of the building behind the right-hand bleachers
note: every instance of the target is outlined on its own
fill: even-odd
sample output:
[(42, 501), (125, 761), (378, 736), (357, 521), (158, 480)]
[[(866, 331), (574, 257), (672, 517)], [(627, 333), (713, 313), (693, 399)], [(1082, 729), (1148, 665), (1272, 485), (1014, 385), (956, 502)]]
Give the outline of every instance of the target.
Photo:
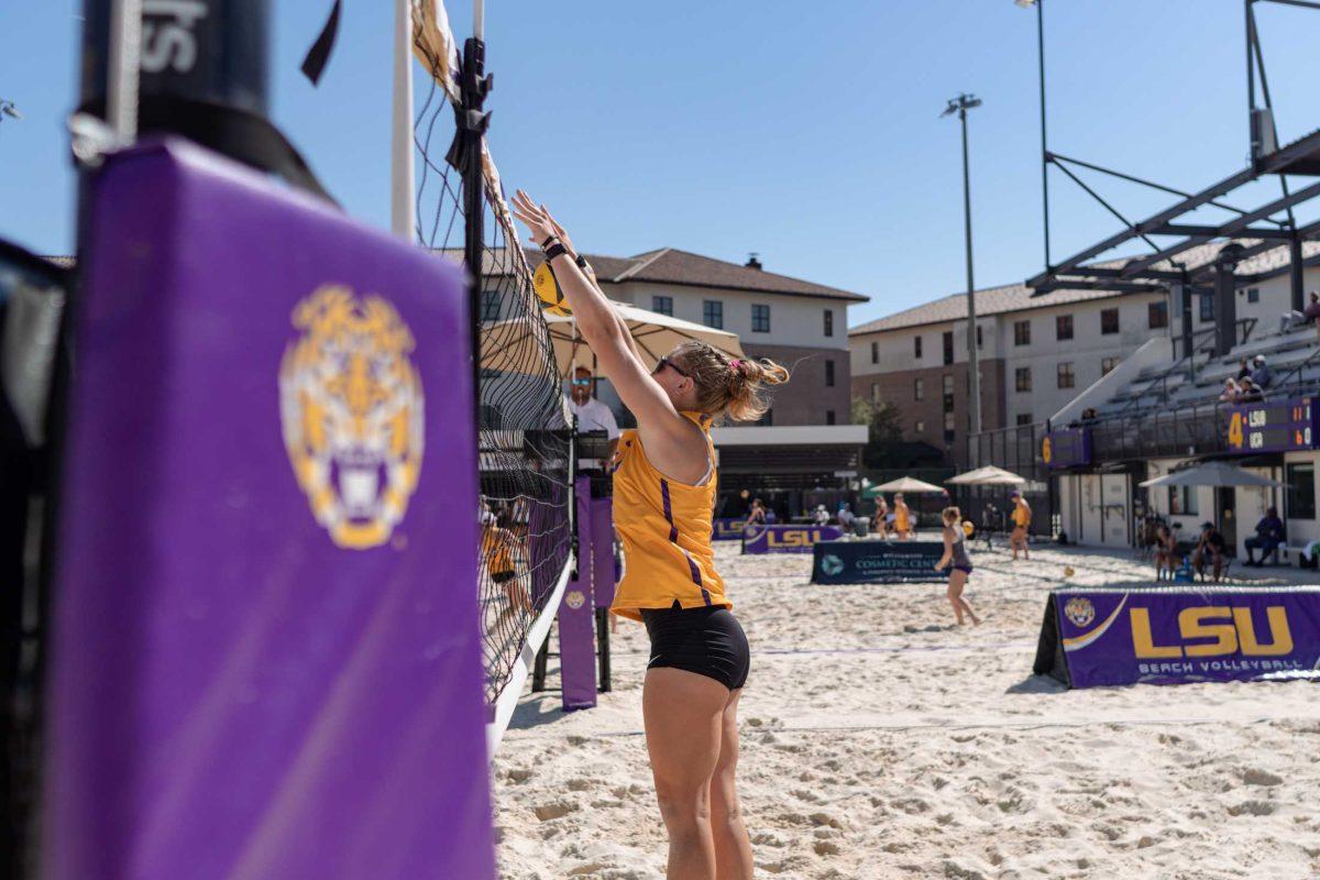
[[(1259, 239), (1234, 239), (1236, 243), (1242, 247), (1253, 247), (1259, 244)], [(1209, 241), (1206, 244), (1199, 244), (1195, 248), (1184, 251), (1177, 255), (1176, 260), (1181, 268), (1188, 270), (1195, 270), (1201, 267), (1214, 263), (1214, 257), (1221, 249), (1224, 249), (1229, 241)], [(1303, 260), (1309, 265), (1320, 260), (1320, 241), (1303, 241), (1302, 243), (1302, 256)], [(1106, 260), (1104, 263), (1092, 263), (1089, 265), (1096, 268), (1122, 268), (1131, 260), (1138, 257), (1122, 257), (1118, 260)], [(1253, 255), (1237, 265), (1236, 273), (1238, 276), (1238, 282), (1250, 282), (1270, 276), (1279, 274), (1288, 269), (1288, 245), (1287, 241), (1279, 241), (1279, 247), (1270, 248), (1262, 253)], [(1172, 265), (1168, 260), (1156, 263), (1154, 269), (1173, 270), (1179, 267)], [(1077, 274), (1085, 274), (1085, 269), (1078, 269)], [(983, 290), (977, 290), (977, 317), (989, 317), (997, 314), (1005, 314), (1010, 311), (1026, 311), (1028, 309), (1048, 309), (1049, 306), (1063, 306), (1073, 302), (1090, 302), (1093, 299), (1110, 299), (1117, 297), (1131, 296), (1119, 290), (1052, 290), (1044, 294), (1035, 294), (1035, 290), (1024, 284), (1007, 284), (999, 288), (986, 288)], [(876, 321), (870, 321), (857, 327), (850, 327), (847, 335), (857, 336), (869, 332), (880, 332), (886, 330), (900, 330), (903, 327), (920, 327), (923, 325), (931, 323), (948, 323), (950, 321), (962, 321), (968, 317), (968, 294), (954, 293), (933, 302), (927, 302), (920, 306), (913, 306), (912, 309), (906, 309), (903, 311), (895, 313), (892, 315), (879, 318)]]

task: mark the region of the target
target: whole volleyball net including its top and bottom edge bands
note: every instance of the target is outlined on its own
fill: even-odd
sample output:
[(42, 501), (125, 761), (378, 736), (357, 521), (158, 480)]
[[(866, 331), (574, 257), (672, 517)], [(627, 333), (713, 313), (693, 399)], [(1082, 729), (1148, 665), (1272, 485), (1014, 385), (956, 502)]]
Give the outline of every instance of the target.
[(480, 509), (473, 515), (494, 755), (574, 567), (572, 418), (532, 267), (486, 141), (492, 79), (483, 4), (475, 3), (474, 36), (459, 51), (444, 3), (407, 1), (412, 53), (430, 74), (409, 123), (418, 164), (416, 189), (407, 190), (414, 194), (413, 235), (462, 261), (471, 280), (480, 470)]

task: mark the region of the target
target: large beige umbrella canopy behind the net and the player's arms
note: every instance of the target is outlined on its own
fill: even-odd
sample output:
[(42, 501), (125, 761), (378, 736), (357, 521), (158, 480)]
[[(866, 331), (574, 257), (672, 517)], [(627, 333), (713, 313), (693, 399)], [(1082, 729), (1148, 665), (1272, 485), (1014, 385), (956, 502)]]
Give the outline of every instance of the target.
[[(733, 358), (742, 358), (742, 344), (738, 334), (715, 330), (705, 325), (682, 321), (657, 311), (647, 311), (626, 302), (611, 302), (632, 334), (634, 342), (647, 359), (647, 367), (655, 365), (661, 358), (690, 339), (705, 342)], [(591, 367), (591, 350), (587, 348), (572, 317), (545, 315), (550, 342), (554, 346), (554, 361), (560, 375), (568, 375), (574, 365)], [(527, 318), (499, 321), (482, 331), (482, 367), (504, 372), (524, 372), (541, 363), (545, 344), (545, 330), (540, 322)], [(601, 369), (597, 376), (605, 375)], [(607, 376), (606, 376), (607, 377)]]

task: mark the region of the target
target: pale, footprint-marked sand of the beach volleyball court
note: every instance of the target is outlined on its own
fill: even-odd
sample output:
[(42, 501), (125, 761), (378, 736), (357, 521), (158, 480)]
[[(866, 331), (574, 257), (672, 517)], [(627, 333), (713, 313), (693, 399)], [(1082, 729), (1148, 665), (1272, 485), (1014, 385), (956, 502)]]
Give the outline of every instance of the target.
[[(809, 557), (721, 546), (752, 644), (743, 810), (758, 877), (1313, 877), (1315, 685), (1065, 691), (1034, 678), (1044, 596), (1147, 583), (1094, 551), (974, 553), (954, 628), (944, 586), (808, 583)], [(642, 627), (620, 624), (615, 690), (564, 715), (524, 695), (495, 760), (503, 876), (664, 876), (642, 738)]]

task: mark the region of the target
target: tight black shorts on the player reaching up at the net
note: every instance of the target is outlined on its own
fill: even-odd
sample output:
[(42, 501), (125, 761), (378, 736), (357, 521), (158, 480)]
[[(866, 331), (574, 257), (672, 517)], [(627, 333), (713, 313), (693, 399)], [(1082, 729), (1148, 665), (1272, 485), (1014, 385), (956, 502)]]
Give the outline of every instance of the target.
[(647, 669), (669, 666), (714, 678), (729, 690), (747, 682), (751, 649), (733, 612), (723, 606), (643, 608), (642, 620), (651, 636)]

